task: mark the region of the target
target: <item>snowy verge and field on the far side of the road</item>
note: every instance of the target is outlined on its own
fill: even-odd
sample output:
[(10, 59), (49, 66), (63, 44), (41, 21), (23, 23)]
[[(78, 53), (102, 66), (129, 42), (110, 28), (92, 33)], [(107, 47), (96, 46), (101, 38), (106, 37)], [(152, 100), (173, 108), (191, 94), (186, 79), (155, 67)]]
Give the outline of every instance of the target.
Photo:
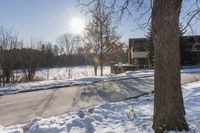
[[(54, 68), (49, 70), (49, 77), (51, 80), (45, 80), (47, 75), (46, 69), (37, 72), (36, 77), (42, 79), (43, 81), (35, 81), (28, 83), (18, 83), (6, 85), (5, 87), (0, 87), (0, 95), (13, 94), (26, 91), (42, 90), (42, 89), (52, 89), (58, 87), (67, 87), (80, 84), (91, 84), (98, 81), (110, 81), (119, 80), (135, 77), (153, 76), (153, 70), (138, 70), (138, 71), (128, 71), (121, 74), (111, 74), (110, 67), (104, 67), (105, 76), (94, 76), (92, 66), (82, 66), (72, 68), (72, 79), (67, 79), (66, 68)], [(59, 74), (56, 74), (56, 73)], [(200, 73), (200, 68), (193, 69), (182, 69), (182, 73)]]

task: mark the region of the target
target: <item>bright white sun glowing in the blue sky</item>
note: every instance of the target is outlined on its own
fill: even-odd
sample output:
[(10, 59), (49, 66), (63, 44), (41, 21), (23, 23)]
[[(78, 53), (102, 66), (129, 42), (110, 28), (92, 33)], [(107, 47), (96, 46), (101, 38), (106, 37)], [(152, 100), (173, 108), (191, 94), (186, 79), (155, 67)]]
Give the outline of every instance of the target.
[(70, 30), (74, 34), (81, 34), (85, 28), (85, 22), (80, 17), (74, 17), (70, 21)]

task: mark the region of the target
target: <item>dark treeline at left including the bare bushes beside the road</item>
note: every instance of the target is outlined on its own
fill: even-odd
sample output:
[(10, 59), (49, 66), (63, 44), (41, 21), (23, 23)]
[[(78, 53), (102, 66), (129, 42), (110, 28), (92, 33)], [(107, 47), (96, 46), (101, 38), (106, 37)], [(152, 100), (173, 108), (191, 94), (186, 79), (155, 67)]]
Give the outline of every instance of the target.
[[(55, 54), (53, 49), (42, 45), (45, 49), (33, 48), (0, 48), (0, 84), (5, 85), (10, 82), (27, 82), (34, 80), (38, 68), (71, 67), (78, 65), (92, 65), (84, 53), (74, 53), (72, 55)], [(79, 48), (80, 49), (80, 48)], [(23, 78), (19, 79), (14, 75), (14, 71), (21, 70)]]

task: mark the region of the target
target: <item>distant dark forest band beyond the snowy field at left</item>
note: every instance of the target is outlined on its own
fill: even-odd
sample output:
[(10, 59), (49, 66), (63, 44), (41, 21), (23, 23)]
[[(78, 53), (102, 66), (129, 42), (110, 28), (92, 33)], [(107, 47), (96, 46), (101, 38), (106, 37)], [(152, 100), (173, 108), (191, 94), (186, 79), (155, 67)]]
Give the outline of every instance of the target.
[[(82, 53), (73, 55), (55, 55), (51, 50), (41, 51), (32, 48), (21, 48), (12, 50), (0, 50), (1, 57), (12, 64), (13, 70), (23, 69), (24, 67), (35, 64), (39, 68), (53, 68), (77, 65), (91, 65), (91, 62), (86, 61), (86, 57)], [(3, 60), (2, 58), (2, 60)], [(2, 62), (2, 65), (6, 64)]]

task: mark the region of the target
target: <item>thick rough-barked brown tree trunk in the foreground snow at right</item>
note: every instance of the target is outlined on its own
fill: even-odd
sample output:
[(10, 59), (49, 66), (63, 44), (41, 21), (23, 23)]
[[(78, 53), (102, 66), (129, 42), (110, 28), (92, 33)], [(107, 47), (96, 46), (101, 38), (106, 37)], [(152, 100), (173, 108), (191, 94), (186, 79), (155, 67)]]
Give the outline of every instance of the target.
[(179, 15), (182, 0), (154, 0), (152, 11), (155, 55), (153, 129), (188, 130), (180, 84)]

